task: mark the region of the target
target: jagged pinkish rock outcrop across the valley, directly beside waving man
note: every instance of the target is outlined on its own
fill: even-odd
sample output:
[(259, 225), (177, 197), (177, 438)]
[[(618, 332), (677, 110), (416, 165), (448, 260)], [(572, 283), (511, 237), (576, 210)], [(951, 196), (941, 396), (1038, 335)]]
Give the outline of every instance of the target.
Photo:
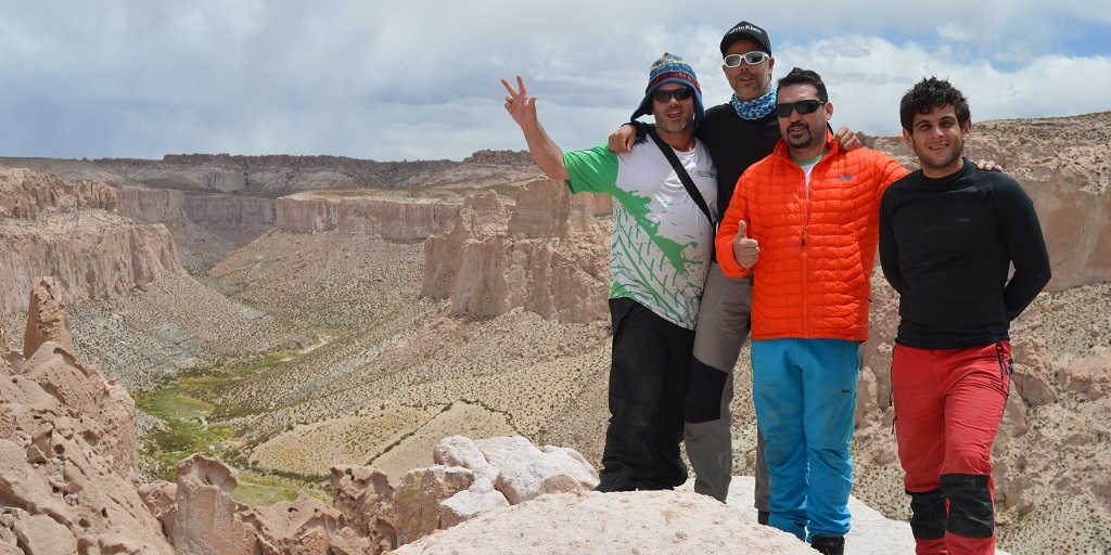
[(564, 323), (605, 314), (608, 198), (572, 195), (547, 179), (526, 184), (512, 212), (494, 193), (470, 196), (456, 225), (424, 243), (422, 296), (453, 314), (492, 316), (521, 306)]

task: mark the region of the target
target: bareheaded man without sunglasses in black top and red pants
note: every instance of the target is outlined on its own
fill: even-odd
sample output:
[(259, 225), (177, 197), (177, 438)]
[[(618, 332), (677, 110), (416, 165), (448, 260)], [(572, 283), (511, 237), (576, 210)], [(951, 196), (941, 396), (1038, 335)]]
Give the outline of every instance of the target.
[(995, 553), (991, 444), (1010, 387), (1008, 330), (1049, 283), (1049, 253), (1019, 183), (964, 160), (972, 120), (960, 91), (923, 79), (899, 117), (922, 169), (883, 193), (880, 265), (899, 292), (891, 387), (911, 529), (919, 554)]

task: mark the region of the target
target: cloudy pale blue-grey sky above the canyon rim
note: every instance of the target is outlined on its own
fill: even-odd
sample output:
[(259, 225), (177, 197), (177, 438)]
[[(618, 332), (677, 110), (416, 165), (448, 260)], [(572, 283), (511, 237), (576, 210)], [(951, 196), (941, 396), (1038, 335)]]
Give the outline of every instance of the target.
[[(635, 10), (628, 8), (635, 6)], [(924, 75), (973, 120), (1111, 110), (1105, 0), (0, 0), (0, 155), (332, 154), (461, 160), (524, 149), (499, 80), (521, 74), (564, 149), (640, 102), (664, 51), (728, 100), (718, 44), (768, 30), (774, 78), (822, 74), (833, 124), (899, 132)]]

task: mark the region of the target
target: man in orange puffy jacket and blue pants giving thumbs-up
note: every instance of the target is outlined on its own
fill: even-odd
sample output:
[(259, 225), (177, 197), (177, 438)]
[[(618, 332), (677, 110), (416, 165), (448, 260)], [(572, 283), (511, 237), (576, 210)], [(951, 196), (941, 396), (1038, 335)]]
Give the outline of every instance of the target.
[(841, 554), (880, 194), (907, 170), (879, 151), (838, 145), (833, 104), (813, 71), (780, 79), (774, 112), (782, 140), (737, 183), (718, 263), (727, 276), (754, 274), (753, 401), (769, 523)]

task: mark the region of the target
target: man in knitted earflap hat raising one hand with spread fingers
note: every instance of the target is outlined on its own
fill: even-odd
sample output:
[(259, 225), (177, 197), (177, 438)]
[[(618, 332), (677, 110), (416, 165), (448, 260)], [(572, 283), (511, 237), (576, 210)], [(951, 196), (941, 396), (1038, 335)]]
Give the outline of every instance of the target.
[[(563, 153), (537, 120), (536, 97), (518, 77), (506, 110), (524, 133), (537, 165), (573, 193), (613, 196), (610, 315), (613, 322), (610, 422), (602, 453), (602, 492), (663, 490), (687, 481), (680, 456), (683, 395), (702, 286), (717, 218), (715, 170), (694, 139), (704, 115), (690, 65), (664, 54), (649, 72), (633, 118), (651, 113), (663, 143), (643, 143), (628, 154), (599, 145)], [(669, 162), (665, 151), (677, 160)], [(688, 175), (680, 175), (681, 170)], [(709, 214), (682, 178), (689, 176)]]

